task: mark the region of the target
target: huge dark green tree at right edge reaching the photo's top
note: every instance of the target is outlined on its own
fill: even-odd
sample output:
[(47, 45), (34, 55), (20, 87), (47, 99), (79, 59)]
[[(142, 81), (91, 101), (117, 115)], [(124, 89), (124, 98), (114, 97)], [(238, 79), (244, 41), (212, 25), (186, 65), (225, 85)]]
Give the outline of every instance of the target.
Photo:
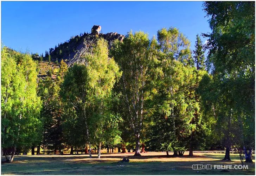
[(230, 147), (236, 143), (234, 124), (240, 124), (241, 138), (247, 136), (242, 140), (244, 145), (249, 150), (255, 145), (255, 2), (204, 2), (204, 10), (212, 29), (212, 33), (205, 34), (212, 81), (204, 81), (212, 82), (212, 88), (205, 83), (203, 88), (216, 92), (214, 99), (205, 99), (212, 99), (218, 125), (223, 129), (224, 160), (230, 160)]

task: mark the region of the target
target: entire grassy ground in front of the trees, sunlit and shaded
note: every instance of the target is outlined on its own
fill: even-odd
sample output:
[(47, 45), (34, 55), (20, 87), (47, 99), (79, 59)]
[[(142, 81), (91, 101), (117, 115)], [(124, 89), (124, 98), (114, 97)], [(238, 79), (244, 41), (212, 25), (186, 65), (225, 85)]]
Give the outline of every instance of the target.
[[(255, 163), (248, 164), (248, 170), (213, 169), (214, 164), (241, 164), (238, 154), (231, 154), (231, 162), (223, 162), (224, 154), (194, 153), (188, 157), (166, 157), (165, 152), (147, 152), (142, 157), (134, 153), (96, 155), (27, 155), (15, 156), (13, 163), (2, 163), (1, 174), (18, 175), (254, 175)], [(172, 153), (170, 153), (171, 155)], [(122, 158), (129, 163), (121, 162)], [(5, 160), (4, 157), (1, 158)], [(255, 156), (253, 157), (255, 162)], [(211, 170), (192, 170), (192, 164), (211, 164)], [(197, 172), (199, 171), (199, 172)]]

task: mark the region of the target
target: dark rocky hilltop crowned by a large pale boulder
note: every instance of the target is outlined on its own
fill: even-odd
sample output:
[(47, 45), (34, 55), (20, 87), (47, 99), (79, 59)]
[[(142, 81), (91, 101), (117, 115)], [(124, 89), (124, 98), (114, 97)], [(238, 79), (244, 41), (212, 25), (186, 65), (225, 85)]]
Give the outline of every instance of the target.
[[(84, 33), (80, 36), (72, 37), (69, 41), (60, 43), (58, 47), (50, 53), (51, 61), (58, 62), (60, 60), (64, 60), (68, 66), (73, 65), (74, 63), (84, 63), (85, 59), (83, 56), (90, 52), (92, 47), (95, 45), (96, 41), (99, 38), (104, 38), (108, 41), (109, 48), (112, 46), (114, 40), (122, 41), (124, 35), (117, 34), (116, 32), (101, 34), (101, 26), (93, 26), (91, 29), (91, 33)], [(46, 58), (47, 59), (47, 58)]]

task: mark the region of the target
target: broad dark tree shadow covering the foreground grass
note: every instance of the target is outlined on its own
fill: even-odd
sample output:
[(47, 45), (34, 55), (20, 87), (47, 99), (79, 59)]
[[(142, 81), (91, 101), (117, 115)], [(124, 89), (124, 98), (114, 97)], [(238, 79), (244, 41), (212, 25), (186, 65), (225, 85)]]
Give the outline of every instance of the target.
[[(15, 161), (10, 164), (4, 164), (2, 167), (2, 174), (35, 174), (35, 175), (45, 175), (45, 174), (61, 174), (61, 175), (83, 175), (83, 174), (107, 174), (107, 175), (192, 175), (192, 174), (213, 174), (213, 175), (223, 175), (223, 174), (252, 174), (255, 168), (254, 163), (248, 164), (248, 171), (236, 171), (229, 170), (228, 172), (221, 172), (221, 170), (200, 170), (198, 173), (196, 170), (192, 170), (193, 164), (226, 164), (226, 162), (221, 160), (207, 161), (207, 157), (201, 157), (200, 161), (184, 161), (184, 157), (177, 157), (180, 161), (143, 161), (136, 160), (131, 162), (119, 162), (117, 160), (109, 161), (105, 158), (96, 159), (88, 158), (82, 160), (85, 156), (70, 156), (70, 157), (36, 157), (36, 156), (22, 156), (16, 157)], [(103, 156), (102, 156), (103, 157)], [(107, 156), (105, 156), (107, 157)], [(120, 157), (120, 156), (116, 156)], [(121, 156), (122, 157), (122, 156)], [(130, 156), (132, 157), (132, 156)], [(154, 155), (154, 156), (142, 156), (144, 158), (164, 158), (165, 155)], [(77, 159), (78, 160), (75, 160)], [(112, 157), (113, 158), (113, 157)], [(136, 158), (136, 157), (134, 157)], [(194, 157), (191, 157), (194, 158)], [(211, 158), (211, 157), (209, 157)], [(73, 160), (73, 161), (72, 161)], [(120, 158), (121, 160), (121, 158)], [(240, 164), (239, 162), (231, 162), (227, 164)], [(213, 167), (213, 166), (212, 166)]]

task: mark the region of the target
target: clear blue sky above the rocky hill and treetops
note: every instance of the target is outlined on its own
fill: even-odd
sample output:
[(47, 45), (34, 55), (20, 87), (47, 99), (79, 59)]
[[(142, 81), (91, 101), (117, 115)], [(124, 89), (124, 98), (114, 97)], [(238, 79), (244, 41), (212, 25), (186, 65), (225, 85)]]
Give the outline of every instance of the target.
[[(60, 42), (101, 25), (102, 32), (177, 27), (191, 41), (210, 32), (203, 2), (1, 2), (1, 36), (15, 50), (45, 53)], [(202, 39), (205, 42), (206, 39)]]

